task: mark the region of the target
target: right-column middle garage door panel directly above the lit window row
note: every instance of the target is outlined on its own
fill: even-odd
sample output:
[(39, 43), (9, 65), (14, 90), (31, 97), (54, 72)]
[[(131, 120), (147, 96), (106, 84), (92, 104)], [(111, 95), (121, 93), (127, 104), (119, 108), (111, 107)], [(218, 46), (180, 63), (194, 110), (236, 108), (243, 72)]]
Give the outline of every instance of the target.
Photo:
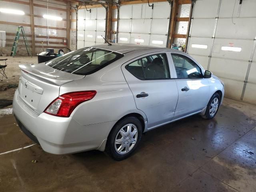
[(168, 24), (169, 24), (168, 19), (153, 19), (151, 34), (161, 34), (161, 35), (167, 34)]

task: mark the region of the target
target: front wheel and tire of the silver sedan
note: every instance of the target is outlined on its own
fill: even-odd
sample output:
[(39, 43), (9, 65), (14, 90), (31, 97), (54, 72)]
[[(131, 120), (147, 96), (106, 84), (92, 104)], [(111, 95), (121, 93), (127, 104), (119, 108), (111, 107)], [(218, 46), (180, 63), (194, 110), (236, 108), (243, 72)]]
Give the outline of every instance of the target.
[(214, 93), (213, 96), (210, 98), (208, 105), (206, 107), (206, 111), (204, 116), (205, 119), (212, 119), (218, 112), (220, 106), (220, 95), (218, 93)]

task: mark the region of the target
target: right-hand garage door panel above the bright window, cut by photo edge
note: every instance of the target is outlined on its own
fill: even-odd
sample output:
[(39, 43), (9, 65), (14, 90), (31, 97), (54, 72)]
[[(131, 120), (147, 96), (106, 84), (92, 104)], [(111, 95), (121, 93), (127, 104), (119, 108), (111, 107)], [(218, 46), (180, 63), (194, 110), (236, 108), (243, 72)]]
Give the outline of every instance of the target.
[(256, 35), (256, 18), (233, 18), (233, 22), (235, 25), (230, 22), (230, 18), (220, 18), (215, 37), (254, 39)]

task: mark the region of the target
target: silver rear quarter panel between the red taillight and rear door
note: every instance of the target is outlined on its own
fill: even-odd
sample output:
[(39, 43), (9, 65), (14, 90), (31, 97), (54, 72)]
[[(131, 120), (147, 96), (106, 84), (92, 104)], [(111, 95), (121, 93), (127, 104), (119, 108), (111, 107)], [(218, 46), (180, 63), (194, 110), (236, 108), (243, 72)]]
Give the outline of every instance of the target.
[(130, 113), (141, 114), (146, 120), (146, 115), (136, 108), (121, 64), (110, 64), (81, 80), (62, 85), (60, 95), (83, 90), (96, 90), (97, 94), (72, 112), (71, 116), (81, 125), (116, 121)]

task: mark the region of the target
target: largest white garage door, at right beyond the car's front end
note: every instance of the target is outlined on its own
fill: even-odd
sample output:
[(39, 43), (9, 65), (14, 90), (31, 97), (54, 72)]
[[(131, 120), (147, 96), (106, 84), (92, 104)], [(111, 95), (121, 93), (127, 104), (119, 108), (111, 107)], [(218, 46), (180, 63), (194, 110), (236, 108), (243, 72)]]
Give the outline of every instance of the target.
[(255, 0), (197, 0), (187, 50), (224, 81), (226, 97), (254, 104), (255, 9)]

